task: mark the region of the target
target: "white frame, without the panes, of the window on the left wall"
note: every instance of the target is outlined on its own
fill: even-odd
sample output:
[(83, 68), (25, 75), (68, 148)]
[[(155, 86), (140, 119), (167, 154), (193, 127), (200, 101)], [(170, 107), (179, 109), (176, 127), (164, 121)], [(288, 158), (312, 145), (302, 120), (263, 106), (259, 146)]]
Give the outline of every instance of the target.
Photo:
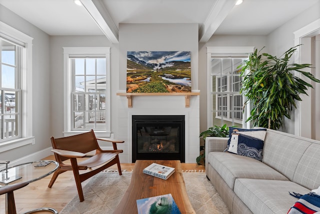
[(27, 144), (34, 144), (32, 131), (32, 37), (0, 22), (0, 37), (15, 43), (21, 48), (21, 117), (20, 137), (0, 143), (0, 152), (14, 149)]

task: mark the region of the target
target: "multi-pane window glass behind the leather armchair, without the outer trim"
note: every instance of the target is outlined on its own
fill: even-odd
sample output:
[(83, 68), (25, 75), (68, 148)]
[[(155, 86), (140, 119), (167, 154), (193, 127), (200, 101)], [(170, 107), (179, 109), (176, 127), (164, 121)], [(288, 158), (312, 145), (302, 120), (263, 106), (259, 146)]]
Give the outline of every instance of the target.
[(70, 63), (72, 130), (105, 129), (105, 57), (70, 58)]

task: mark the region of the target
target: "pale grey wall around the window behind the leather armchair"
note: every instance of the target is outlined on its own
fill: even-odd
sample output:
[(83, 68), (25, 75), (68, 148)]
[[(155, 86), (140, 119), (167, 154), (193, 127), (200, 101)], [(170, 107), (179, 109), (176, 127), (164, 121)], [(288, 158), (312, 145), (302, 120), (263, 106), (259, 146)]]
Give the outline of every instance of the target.
[[(118, 78), (118, 45), (111, 44), (105, 36), (50, 36), (50, 106), (51, 136), (63, 136), (63, 47), (111, 47), (110, 78), (111, 99), (115, 98)], [(111, 110), (116, 109), (111, 103)], [(113, 116), (113, 115), (112, 115)], [(111, 118), (115, 121), (116, 118)], [(114, 124), (111, 124), (114, 128)]]

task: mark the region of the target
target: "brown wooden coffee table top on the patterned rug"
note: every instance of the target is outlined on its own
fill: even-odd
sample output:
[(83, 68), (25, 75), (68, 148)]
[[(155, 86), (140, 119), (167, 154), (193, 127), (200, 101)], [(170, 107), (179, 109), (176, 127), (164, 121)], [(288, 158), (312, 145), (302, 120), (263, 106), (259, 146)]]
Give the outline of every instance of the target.
[[(151, 163), (175, 168), (166, 180), (147, 175), (142, 170)], [(136, 160), (131, 182), (113, 213), (138, 213), (136, 200), (171, 193), (181, 213), (195, 213), (186, 193), (179, 160)]]

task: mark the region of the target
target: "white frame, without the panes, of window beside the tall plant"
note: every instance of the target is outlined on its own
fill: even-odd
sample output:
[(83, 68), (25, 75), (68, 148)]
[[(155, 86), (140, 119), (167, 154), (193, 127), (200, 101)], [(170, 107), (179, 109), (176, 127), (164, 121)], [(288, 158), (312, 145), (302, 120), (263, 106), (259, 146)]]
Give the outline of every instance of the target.
[[(230, 47), (206, 47), (206, 70), (207, 70), (207, 127), (212, 126), (212, 81), (211, 81), (211, 57), (245, 57), (248, 56), (249, 53), (253, 53), (254, 47), (252, 46), (230, 46)], [(228, 95), (227, 95), (228, 96)], [(243, 102), (245, 102), (245, 98), (242, 98)], [(245, 106), (243, 119), (242, 119), (242, 127), (249, 128), (250, 124), (246, 123), (246, 115), (250, 115), (250, 108), (248, 105)]]

